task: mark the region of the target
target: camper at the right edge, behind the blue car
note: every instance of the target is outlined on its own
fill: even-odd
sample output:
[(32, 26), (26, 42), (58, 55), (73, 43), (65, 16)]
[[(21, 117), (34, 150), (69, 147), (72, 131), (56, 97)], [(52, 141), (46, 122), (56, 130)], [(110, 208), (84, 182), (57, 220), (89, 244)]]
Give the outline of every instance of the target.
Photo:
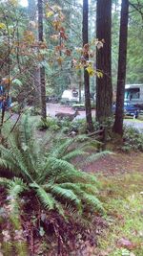
[(143, 84), (126, 84), (124, 101), (143, 108)]

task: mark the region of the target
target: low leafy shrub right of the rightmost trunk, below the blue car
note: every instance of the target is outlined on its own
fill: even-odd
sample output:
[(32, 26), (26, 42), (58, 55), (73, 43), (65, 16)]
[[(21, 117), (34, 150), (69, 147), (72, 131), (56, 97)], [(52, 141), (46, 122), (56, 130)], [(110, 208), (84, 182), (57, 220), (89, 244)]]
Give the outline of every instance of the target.
[(143, 134), (137, 128), (125, 127), (123, 151), (143, 151)]

